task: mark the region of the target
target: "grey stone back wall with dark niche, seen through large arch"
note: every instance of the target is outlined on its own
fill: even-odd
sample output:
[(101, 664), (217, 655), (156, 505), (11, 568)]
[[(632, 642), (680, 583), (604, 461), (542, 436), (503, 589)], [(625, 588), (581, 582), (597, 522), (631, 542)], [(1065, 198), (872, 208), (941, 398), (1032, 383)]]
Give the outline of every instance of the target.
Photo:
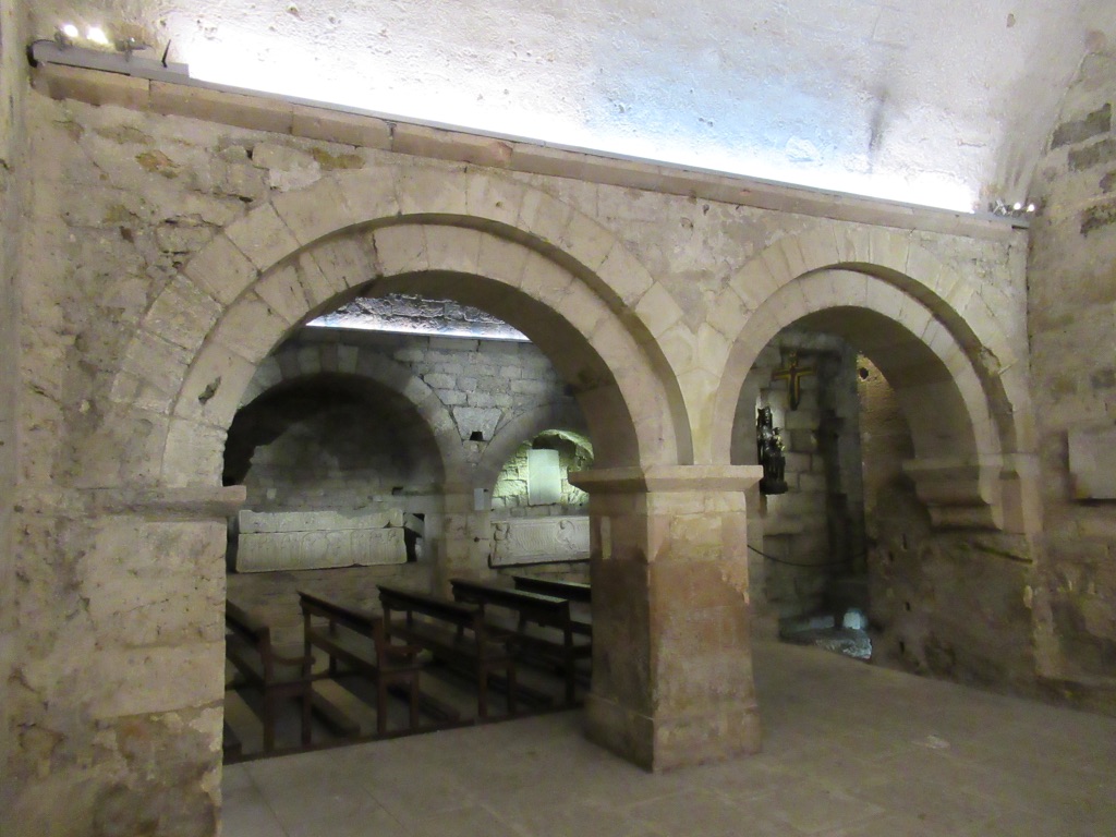
[[(383, 368), (395, 369), (396, 378), (385, 378)], [(404, 372), (411, 377), (400, 376)], [(403, 394), (408, 381), (430, 387), (452, 416), (452, 427), (435, 431), (427, 424), (429, 416)], [(426, 522), (408, 566), (231, 574), (229, 597), (266, 618), (281, 642), (298, 639), (299, 589), (373, 610), (379, 609), (379, 581), (430, 589), (442, 538), (443, 483), (450, 479), (491, 492), (479, 465), (490, 448), (529, 443), (502, 439), (514, 432), (517, 420), (566, 416), (575, 419), (567, 430), (584, 426), (554, 366), (522, 341), (305, 328), (260, 366), (246, 397), (251, 403), (233, 421), (225, 454), (225, 479), (244, 483), (246, 508), (403, 509)], [(446, 472), (452, 466), (440, 456), (435, 432), (443, 444), (461, 449), (464, 472)], [(232, 472), (231, 455), (240, 462)], [(502, 510), (503, 503), (493, 498), (496, 508)], [(568, 513), (565, 509), (543, 511)], [(481, 574), (487, 565), (459, 569)]]

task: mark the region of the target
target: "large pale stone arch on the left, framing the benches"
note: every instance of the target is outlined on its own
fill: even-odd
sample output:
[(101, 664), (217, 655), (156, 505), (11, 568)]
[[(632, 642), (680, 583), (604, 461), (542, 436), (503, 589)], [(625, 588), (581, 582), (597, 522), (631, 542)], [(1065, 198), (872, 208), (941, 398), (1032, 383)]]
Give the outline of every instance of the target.
[(294, 327), (385, 278), (437, 277), (445, 287), (451, 276), (473, 291), (470, 304), (513, 298), (540, 337), (560, 326), (593, 355), (584, 369), (567, 372), (587, 374), (570, 383), (596, 417), (595, 434), (627, 439), (608, 445), (619, 461), (692, 462), (677, 381), (652, 337), (654, 324), (635, 311), (655, 286), (646, 269), (569, 205), (468, 170), (448, 176), (379, 166), (256, 208), (155, 299), (112, 398), (169, 416), (164, 484), (212, 482), (256, 367)]

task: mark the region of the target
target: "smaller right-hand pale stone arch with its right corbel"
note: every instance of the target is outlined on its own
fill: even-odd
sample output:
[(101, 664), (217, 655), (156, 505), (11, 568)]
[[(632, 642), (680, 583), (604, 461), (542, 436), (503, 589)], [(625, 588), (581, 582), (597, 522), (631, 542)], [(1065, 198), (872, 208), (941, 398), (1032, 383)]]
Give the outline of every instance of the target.
[[(907, 463), (920, 498), (942, 526), (1024, 526), (1014, 485), (1002, 484), (1016, 451), (994, 420), (995, 400), (963, 343), (922, 300), (895, 283), (824, 269), (782, 283), (741, 330), (714, 407), (713, 444), (728, 456), (737, 400), (760, 350), (783, 328), (802, 325), (845, 337), (879, 366), (911, 425)], [(1013, 440), (1011, 440), (1013, 441)]]

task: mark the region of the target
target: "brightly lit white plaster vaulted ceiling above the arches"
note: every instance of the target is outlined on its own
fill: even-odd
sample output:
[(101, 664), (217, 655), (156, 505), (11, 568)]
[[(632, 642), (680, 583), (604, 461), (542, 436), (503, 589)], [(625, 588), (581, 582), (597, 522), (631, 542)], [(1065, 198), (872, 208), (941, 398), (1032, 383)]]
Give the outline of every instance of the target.
[(196, 78), (954, 209), (1026, 199), (1116, 0), (28, 0)]

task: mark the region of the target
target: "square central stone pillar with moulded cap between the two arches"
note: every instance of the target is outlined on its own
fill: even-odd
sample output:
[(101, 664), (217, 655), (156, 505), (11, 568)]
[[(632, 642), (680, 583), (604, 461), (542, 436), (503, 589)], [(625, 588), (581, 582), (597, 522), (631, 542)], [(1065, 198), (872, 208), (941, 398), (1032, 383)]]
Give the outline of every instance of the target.
[(589, 492), (589, 738), (648, 770), (760, 749), (744, 490), (754, 465), (570, 474)]

